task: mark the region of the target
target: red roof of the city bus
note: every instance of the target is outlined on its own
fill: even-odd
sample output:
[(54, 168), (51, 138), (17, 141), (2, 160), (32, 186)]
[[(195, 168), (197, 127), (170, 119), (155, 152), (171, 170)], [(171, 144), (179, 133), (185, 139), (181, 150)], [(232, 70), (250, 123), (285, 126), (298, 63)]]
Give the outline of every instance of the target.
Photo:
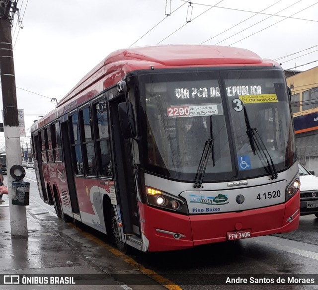
[[(129, 72), (181, 67), (221, 67), (221, 66), (272, 66), (271, 60), (261, 59), (257, 54), (242, 48), (215, 45), (160, 45), (127, 48), (108, 55), (88, 72), (78, 84), (58, 103), (55, 110), (40, 119), (59, 117), (73, 107), (77, 96), (89, 99), (100, 91), (116, 84)], [(275, 63), (275, 65), (278, 65)], [(102, 80), (102, 81), (100, 81)], [(95, 89), (89, 89), (94, 84)], [(54, 119), (55, 119), (54, 118)], [(52, 120), (46, 120), (41, 125)], [(34, 126), (32, 126), (33, 128)], [(37, 126), (36, 126), (37, 127)], [(36, 129), (36, 128), (34, 128)]]

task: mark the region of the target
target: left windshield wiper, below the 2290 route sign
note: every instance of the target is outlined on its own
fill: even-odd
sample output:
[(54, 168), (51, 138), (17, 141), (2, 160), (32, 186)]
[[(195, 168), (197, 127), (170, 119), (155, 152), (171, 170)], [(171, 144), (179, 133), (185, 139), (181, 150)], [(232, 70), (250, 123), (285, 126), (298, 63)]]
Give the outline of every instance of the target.
[(215, 155), (214, 155), (214, 139), (213, 139), (213, 126), (212, 126), (212, 116), (210, 116), (210, 138), (205, 142), (203, 152), (200, 158), (200, 163), (198, 166), (197, 173), (195, 175), (195, 181), (193, 187), (200, 188), (202, 185), (203, 176), (207, 168), (209, 154), (212, 155), (213, 167), (215, 166)]

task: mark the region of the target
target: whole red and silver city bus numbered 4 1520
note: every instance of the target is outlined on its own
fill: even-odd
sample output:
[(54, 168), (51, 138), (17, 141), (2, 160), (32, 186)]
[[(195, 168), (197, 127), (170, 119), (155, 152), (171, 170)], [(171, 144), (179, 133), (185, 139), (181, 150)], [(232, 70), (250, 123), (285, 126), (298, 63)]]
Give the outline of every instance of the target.
[(31, 128), (41, 198), (120, 250), (167, 251), (297, 229), (285, 74), (234, 47), (106, 57)]

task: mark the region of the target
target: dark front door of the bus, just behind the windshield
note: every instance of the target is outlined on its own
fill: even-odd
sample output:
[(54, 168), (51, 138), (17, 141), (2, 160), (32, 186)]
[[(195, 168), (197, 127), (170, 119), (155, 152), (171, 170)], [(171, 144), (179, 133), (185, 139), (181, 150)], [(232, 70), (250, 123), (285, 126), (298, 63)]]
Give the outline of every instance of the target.
[(124, 139), (120, 130), (118, 104), (125, 102), (125, 96), (119, 96), (109, 101), (114, 181), (117, 197), (120, 201), (121, 217), (124, 233), (134, 233), (140, 236), (140, 222), (137, 204), (137, 193), (133, 171), (131, 140)]

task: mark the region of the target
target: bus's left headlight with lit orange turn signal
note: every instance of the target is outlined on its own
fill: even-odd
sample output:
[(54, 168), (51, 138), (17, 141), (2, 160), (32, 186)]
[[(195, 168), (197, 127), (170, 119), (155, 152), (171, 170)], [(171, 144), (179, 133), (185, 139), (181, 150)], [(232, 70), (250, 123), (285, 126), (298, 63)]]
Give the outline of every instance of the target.
[(185, 200), (181, 197), (172, 196), (158, 189), (146, 187), (147, 204), (162, 210), (188, 214)]

